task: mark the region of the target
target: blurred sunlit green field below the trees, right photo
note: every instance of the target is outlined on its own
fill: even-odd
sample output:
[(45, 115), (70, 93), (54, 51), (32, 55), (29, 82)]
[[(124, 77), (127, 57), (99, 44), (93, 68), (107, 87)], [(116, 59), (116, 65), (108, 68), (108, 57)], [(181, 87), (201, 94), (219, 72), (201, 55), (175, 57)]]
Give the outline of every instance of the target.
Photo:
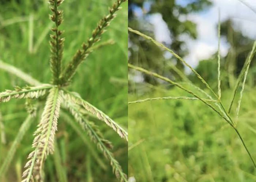
[[(139, 84), (137, 85), (139, 87)], [(165, 96), (190, 96), (165, 86), (144, 94), (129, 94), (129, 101)], [(156, 88), (156, 89), (155, 89)], [(227, 107), (232, 90), (222, 92)], [(235, 108), (233, 109), (234, 115)], [(256, 171), (236, 132), (198, 100), (155, 100), (130, 104), (129, 177), (137, 181), (253, 182)], [(256, 157), (255, 87), (246, 87), (238, 130)]]

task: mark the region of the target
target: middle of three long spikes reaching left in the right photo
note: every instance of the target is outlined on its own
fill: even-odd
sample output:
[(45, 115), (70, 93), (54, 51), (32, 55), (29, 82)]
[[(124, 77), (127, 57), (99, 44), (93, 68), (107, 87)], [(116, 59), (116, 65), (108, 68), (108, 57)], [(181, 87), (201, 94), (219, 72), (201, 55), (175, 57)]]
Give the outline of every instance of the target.
[(203, 103), (205, 103), (207, 106), (209, 106), (210, 108), (212, 108), (212, 110), (214, 110), (215, 112), (217, 112), (217, 114), (219, 114), (219, 116), (221, 116), (223, 119), (225, 119), (225, 120), (227, 121), (227, 123), (229, 123), (229, 124), (232, 126), (232, 122), (230, 121), (229, 118), (226, 118), (225, 116), (223, 116), (223, 115), (221, 114), (221, 112), (218, 111), (218, 110), (216, 110), (216, 108), (214, 108), (211, 104), (207, 103), (207, 102), (204, 101), (202, 98), (200, 98), (200, 96), (196, 95), (194, 92), (188, 90), (187, 88), (181, 86), (180, 84), (178, 84), (178, 83), (176, 83), (176, 82), (173, 82), (173, 81), (170, 80), (169, 78), (166, 78), (166, 77), (164, 77), (164, 76), (158, 75), (158, 74), (156, 74), (156, 73), (154, 73), (154, 72), (145, 70), (145, 69), (143, 69), (143, 68), (140, 68), (140, 67), (137, 67), (137, 66), (133, 66), (132, 64), (129, 64), (129, 63), (128, 63), (128, 67), (129, 67), (129, 68), (132, 68), (132, 69), (135, 69), (135, 70), (137, 70), (137, 71), (143, 72), (144, 74), (154, 76), (154, 77), (156, 77), (156, 78), (159, 78), (159, 79), (161, 79), (161, 80), (164, 80), (164, 81), (166, 81), (166, 82), (168, 82), (168, 83), (173, 84), (174, 86), (177, 86), (177, 87), (181, 88), (182, 90), (184, 90), (184, 91), (188, 92), (189, 94), (195, 96), (196, 98), (198, 98), (199, 100), (201, 100)]

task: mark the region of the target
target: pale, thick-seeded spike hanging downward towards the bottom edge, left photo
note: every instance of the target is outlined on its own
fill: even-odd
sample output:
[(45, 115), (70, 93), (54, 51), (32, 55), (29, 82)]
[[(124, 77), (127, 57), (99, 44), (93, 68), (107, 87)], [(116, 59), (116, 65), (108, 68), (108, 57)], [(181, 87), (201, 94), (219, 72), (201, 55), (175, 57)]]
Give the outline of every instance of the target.
[(26, 163), (27, 168), (22, 177), (22, 182), (29, 182), (33, 176), (37, 181), (42, 181), (42, 168), (44, 161), (49, 153), (54, 150), (54, 136), (57, 130), (57, 119), (59, 118), (60, 104), (62, 98), (59, 88), (54, 87), (50, 90), (50, 94), (46, 100), (45, 108), (41, 116), (38, 128), (35, 131), (32, 147), (35, 148), (29, 154), (29, 161)]

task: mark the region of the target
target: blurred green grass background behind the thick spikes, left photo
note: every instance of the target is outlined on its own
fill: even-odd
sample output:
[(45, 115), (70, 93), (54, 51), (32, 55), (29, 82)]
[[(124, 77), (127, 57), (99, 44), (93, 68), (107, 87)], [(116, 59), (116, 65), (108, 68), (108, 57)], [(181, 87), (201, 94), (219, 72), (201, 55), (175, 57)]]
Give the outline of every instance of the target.
[[(91, 36), (91, 31), (102, 16), (108, 13), (108, 7), (113, 3), (114, 0), (64, 1), (60, 6), (60, 9), (64, 10), (64, 22), (60, 26), (61, 30), (65, 30), (63, 64), (69, 62), (82, 42)], [(92, 52), (80, 66), (68, 89), (78, 92), (82, 98), (127, 128), (128, 3), (123, 3), (122, 7), (99, 42), (113, 40), (114, 44), (108, 44)], [(51, 78), (49, 33), (53, 24), (49, 20), (49, 14), (47, 0), (25, 0), (19, 3), (10, 0), (0, 3), (0, 59), (42, 83), (49, 83)], [(14, 86), (26, 86), (26, 83), (0, 70), (0, 91), (12, 90)], [(6, 136), (6, 144), (0, 143), (0, 163), (27, 116), (23, 103), (25, 100), (12, 99), (8, 103), (0, 104)], [(56, 141), (61, 160), (65, 164), (68, 181), (117, 181), (112, 174), (109, 161), (97, 147), (93, 144), (94, 151), (97, 151), (99, 161), (103, 164), (101, 166), (91, 157), (93, 151), (89, 150), (74, 129), (63, 122), (63, 119), (67, 118), (59, 119)], [(32, 150), (33, 132), (38, 121), (37, 117), (25, 135), (7, 175), (2, 179), (3, 182), (20, 181), (26, 157)], [(95, 120), (95, 123), (100, 126), (104, 137), (113, 142), (114, 157), (127, 173), (127, 142), (101, 121)], [(90, 141), (86, 134), (84, 136)], [(46, 180), (56, 181), (55, 173), (53, 158), (49, 156), (45, 163)]]

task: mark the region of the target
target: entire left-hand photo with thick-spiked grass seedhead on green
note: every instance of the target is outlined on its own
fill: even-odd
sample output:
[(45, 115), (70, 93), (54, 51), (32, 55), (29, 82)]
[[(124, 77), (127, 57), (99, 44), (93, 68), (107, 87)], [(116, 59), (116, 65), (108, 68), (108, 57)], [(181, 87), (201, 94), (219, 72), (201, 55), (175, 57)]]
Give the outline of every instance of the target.
[(0, 181), (127, 182), (128, 2), (0, 1)]

